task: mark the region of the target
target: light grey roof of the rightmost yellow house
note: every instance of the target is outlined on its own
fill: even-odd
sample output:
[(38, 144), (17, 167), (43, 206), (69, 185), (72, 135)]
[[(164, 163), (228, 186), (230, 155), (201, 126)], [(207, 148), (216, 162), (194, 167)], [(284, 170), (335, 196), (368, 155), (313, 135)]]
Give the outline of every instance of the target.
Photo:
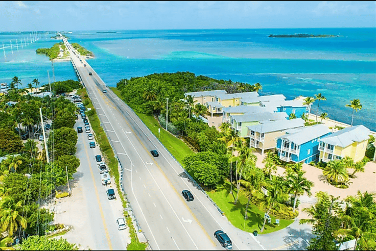
[(333, 146), (347, 147), (354, 142), (362, 142), (369, 139), (370, 130), (365, 126), (351, 126), (330, 134), (321, 139), (321, 142)]

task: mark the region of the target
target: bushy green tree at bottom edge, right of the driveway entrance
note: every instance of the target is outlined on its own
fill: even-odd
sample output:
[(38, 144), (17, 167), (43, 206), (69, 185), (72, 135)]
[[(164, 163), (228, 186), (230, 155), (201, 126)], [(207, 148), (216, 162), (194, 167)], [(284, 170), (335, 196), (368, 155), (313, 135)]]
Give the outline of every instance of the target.
[(311, 238), (307, 250), (336, 250), (334, 243), (335, 231), (340, 226), (342, 209), (338, 198), (328, 195), (326, 192), (318, 192), (315, 205), (303, 208), (311, 218), (301, 219), (299, 224), (313, 224), (312, 233), (316, 237)]

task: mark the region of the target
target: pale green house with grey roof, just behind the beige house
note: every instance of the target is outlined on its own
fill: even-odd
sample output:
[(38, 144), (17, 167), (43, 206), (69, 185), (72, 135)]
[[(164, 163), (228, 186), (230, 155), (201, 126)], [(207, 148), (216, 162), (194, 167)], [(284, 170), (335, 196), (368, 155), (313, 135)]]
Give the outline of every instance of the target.
[(285, 112), (261, 112), (249, 113), (244, 115), (231, 115), (230, 124), (240, 137), (249, 137), (248, 127), (258, 125), (260, 121), (269, 122), (273, 120), (286, 119), (288, 115)]

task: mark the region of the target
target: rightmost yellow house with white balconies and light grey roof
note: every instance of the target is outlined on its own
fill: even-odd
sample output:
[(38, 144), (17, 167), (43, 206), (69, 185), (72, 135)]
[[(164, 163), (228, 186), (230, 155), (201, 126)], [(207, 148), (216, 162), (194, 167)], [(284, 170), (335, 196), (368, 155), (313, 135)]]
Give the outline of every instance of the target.
[(320, 139), (320, 160), (328, 163), (331, 160), (351, 157), (354, 162), (364, 158), (370, 130), (365, 126), (351, 126)]

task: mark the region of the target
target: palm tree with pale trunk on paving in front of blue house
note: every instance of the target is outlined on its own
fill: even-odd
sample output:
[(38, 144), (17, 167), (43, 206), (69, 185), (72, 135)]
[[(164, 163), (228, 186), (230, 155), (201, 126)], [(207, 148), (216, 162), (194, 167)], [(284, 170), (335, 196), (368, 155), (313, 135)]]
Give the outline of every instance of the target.
[(313, 182), (304, 177), (305, 171), (300, 170), (298, 172), (291, 172), (286, 178), (286, 183), (288, 185), (288, 193), (294, 194), (294, 206), (293, 212), (295, 212), (296, 201), (298, 197), (304, 195), (306, 192), (309, 197), (311, 197), (311, 187)]

